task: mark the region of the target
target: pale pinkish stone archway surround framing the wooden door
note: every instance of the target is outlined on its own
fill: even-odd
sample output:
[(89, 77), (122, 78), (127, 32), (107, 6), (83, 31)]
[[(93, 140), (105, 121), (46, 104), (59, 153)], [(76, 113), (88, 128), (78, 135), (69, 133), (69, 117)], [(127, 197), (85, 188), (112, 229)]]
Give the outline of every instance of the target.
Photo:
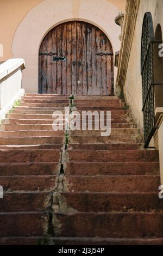
[[(24, 58), (26, 71), (23, 74), (23, 88), (26, 92), (38, 92), (38, 53), (42, 39), (53, 27), (60, 23), (80, 20), (100, 28), (108, 36), (113, 51), (120, 50), (118, 36), (121, 33), (114, 20), (118, 8), (107, 0), (80, 0), (78, 11), (72, 0), (45, 0), (29, 11), (17, 27), (12, 42), (14, 58)], [(116, 79), (116, 69), (115, 69)]]

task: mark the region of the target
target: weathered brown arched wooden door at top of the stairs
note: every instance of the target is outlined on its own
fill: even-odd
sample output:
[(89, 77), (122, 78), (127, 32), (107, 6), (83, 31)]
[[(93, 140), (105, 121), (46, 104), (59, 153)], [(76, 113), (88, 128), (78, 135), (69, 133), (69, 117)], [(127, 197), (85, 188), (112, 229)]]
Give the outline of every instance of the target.
[(107, 36), (82, 21), (49, 31), (39, 51), (39, 93), (113, 95), (113, 53)]

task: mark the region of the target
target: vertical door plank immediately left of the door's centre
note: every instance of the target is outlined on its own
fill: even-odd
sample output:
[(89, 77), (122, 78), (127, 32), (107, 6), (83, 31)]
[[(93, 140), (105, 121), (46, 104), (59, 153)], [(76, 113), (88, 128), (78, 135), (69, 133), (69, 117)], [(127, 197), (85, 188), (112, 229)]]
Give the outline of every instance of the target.
[(77, 94), (77, 22), (72, 22), (72, 94)]

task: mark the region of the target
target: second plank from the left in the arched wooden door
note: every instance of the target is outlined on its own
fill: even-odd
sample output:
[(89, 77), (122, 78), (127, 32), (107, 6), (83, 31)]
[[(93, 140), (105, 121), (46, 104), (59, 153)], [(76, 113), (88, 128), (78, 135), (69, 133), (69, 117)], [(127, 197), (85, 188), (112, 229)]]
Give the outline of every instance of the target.
[[(52, 52), (52, 32), (47, 34), (47, 52)], [(47, 56), (46, 92), (52, 93), (52, 56)]]

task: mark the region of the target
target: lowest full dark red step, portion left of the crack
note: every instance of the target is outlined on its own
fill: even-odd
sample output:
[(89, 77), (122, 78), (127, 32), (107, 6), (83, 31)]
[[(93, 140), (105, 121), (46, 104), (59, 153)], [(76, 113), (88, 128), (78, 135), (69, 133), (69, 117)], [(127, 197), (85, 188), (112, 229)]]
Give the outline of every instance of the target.
[(48, 212), (0, 213), (0, 236), (44, 236), (47, 222)]

